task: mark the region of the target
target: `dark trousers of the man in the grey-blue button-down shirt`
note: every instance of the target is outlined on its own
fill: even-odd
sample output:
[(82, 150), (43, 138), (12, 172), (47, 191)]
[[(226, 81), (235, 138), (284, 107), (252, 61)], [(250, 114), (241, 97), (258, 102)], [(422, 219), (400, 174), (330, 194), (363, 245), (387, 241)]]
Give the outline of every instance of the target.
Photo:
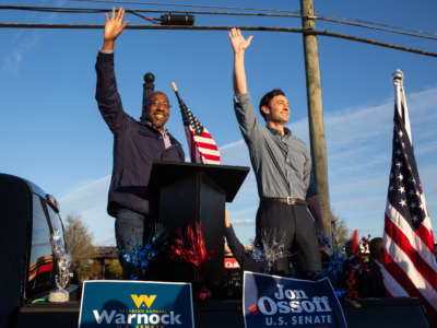
[(271, 274), (288, 277), (290, 257), (294, 251), (297, 251), (299, 261), (299, 278), (321, 271), (315, 222), (306, 206), (261, 201), (255, 242), (264, 249)]

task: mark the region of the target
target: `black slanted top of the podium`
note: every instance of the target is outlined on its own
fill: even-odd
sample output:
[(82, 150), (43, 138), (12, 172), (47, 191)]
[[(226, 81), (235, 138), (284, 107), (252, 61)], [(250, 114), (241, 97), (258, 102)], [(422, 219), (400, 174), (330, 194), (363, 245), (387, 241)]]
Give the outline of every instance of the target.
[(154, 161), (149, 188), (160, 190), (161, 187), (174, 184), (178, 179), (204, 173), (223, 189), (226, 194), (226, 201), (232, 202), (249, 171), (250, 168), (247, 166)]

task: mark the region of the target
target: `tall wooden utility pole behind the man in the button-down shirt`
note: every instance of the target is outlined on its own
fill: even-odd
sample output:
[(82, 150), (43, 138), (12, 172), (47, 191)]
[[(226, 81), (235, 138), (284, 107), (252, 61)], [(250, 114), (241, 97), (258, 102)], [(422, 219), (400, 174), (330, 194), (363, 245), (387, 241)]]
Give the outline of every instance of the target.
[(314, 34), (316, 23), (314, 20), (312, 0), (300, 0), (304, 28), (305, 69), (307, 77), (307, 103), (309, 136), (311, 141), (311, 156), (316, 185), (319, 192), (320, 210), (323, 220), (324, 233), (331, 235), (331, 210), (328, 191), (328, 167), (323, 131), (323, 110), (321, 102), (320, 67), (317, 38)]

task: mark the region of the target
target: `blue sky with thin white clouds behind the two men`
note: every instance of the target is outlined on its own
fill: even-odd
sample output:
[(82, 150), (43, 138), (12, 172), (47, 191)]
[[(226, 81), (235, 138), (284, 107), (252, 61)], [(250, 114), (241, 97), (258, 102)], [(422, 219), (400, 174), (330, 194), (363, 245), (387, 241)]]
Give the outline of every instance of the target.
[[(137, 2), (125, 8), (185, 10)], [(172, 3), (299, 10), (297, 0), (173, 0)], [(20, 1), (20, 4), (111, 7), (78, 1)], [(321, 16), (361, 19), (437, 33), (433, 16), (437, 12), (435, 1), (315, 0), (315, 10)], [(149, 24), (131, 15), (128, 20), (131, 24)], [(1, 11), (0, 23), (11, 22), (104, 24), (105, 17), (104, 14)], [(300, 27), (300, 21), (197, 15), (196, 25)], [(436, 40), (321, 21), (316, 26), (437, 52)], [(102, 33), (101, 30), (0, 28), (0, 172), (25, 177), (55, 195), (63, 218), (80, 215), (95, 243), (108, 245), (114, 244), (114, 219), (106, 214), (113, 136), (94, 99), (94, 63), (103, 43)], [(290, 127), (295, 136), (309, 142), (302, 35), (250, 34), (253, 40), (247, 50), (246, 69), (253, 103), (258, 104), (271, 89), (283, 89), (292, 106)], [(323, 36), (318, 37), (318, 45), (333, 212), (351, 231), (382, 235), (391, 160), (394, 96), (391, 74), (399, 68), (405, 74), (415, 155), (436, 232), (437, 58)], [(233, 112), (233, 56), (225, 31), (127, 30), (116, 44), (115, 56), (118, 87), (129, 115), (140, 117), (143, 74), (152, 71), (156, 89), (167, 93), (175, 105), (167, 127), (185, 147), (172, 81), (213, 134), (223, 164), (250, 166)], [(250, 174), (228, 204), (231, 220), (244, 242), (253, 236), (257, 197)]]

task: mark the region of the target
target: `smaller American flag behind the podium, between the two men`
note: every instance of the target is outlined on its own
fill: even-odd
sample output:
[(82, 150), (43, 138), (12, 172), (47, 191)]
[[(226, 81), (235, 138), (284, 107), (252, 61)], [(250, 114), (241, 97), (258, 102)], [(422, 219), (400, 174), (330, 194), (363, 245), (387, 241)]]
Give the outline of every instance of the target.
[(180, 114), (182, 115), (185, 133), (190, 150), (191, 163), (197, 164), (220, 164), (220, 152), (214, 139), (204, 126), (197, 119), (190, 108), (182, 102), (177, 92), (176, 84), (172, 83), (176, 97), (179, 102)]

